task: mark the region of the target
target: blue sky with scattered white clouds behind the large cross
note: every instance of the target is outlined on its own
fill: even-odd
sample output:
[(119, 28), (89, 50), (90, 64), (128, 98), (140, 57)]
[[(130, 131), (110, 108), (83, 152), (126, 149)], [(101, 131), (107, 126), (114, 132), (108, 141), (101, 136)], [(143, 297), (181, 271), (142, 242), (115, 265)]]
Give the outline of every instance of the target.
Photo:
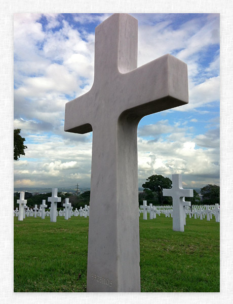
[[(65, 104), (90, 90), (94, 30), (111, 14), (14, 14), (14, 128), (26, 139), (15, 187), (90, 186), (92, 133), (64, 132)], [(152, 174), (219, 185), (219, 14), (132, 14), (138, 66), (170, 53), (188, 66), (189, 104), (138, 126), (139, 187)]]

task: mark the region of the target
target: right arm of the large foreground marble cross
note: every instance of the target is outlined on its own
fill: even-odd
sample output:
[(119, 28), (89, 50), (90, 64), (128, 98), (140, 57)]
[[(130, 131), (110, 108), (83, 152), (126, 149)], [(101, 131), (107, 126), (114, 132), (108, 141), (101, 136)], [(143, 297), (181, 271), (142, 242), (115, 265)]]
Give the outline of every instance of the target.
[(122, 74), (124, 84), (122, 110), (140, 118), (188, 103), (187, 65), (169, 54)]

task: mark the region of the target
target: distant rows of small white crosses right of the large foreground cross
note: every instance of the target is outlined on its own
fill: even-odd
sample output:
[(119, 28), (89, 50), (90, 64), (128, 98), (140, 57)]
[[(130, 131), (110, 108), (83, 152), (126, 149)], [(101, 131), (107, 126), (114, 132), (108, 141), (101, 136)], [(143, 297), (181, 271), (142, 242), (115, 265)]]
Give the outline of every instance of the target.
[[(155, 219), (156, 215), (165, 214), (166, 217), (173, 217), (173, 207), (172, 206), (152, 206), (149, 204), (147, 206), (147, 201), (143, 200), (143, 205), (140, 206), (139, 216), (143, 213), (143, 219), (147, 220), (147, 214), (149, 214), (149, 219)], [(212, 219), (212, 215), (215, 216), (215, 221), (220, 221), (220, 208), (218, 204), (215, 205), (193, 205), (192, 208), (189, 206), (184, 207), (184, 225), (186, 225), (185, 218), (194, 217), (195, 219), (200, 218), (200, 220), (207, 219), (209, 221)]]

